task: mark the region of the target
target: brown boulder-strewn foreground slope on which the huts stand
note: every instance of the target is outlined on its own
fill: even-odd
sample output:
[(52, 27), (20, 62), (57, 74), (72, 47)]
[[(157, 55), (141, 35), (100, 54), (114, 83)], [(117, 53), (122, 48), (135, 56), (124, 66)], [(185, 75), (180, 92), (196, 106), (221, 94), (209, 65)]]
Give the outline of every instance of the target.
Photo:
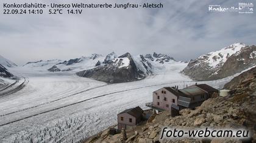
[(225, 88), (231, 90), (230, 96), (210, 98), (195, 110), (183, 109), (180, 116), (172, 118), (166, 111), (153, 116), (145, 125), (127, 130), (127, 138), (117, 134), (109, 136), (102, 131), (85, 142), (241, 142), (236, 139), (172, 139), (159, 140), (162, 127), (192, 129), (204, 128), (247, 128), (251, 138), (246, 142), (256, 142), (256, 77), (255, 68), (236, 76)]

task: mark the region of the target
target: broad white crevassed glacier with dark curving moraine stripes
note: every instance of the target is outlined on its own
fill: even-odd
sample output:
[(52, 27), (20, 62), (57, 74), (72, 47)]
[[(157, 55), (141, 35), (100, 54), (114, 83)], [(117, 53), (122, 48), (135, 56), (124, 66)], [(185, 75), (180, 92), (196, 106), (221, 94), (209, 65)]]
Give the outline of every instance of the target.
[[(70, 73), (24, 73), (26, 87), (0, 98), (0, 142), (78, 142), (116, 124), (126, 108), (147, 108), (152, 91), (194, 84), (179, 71), (109, 85)], [(218, 88), (229, 80), (207, 83)]]

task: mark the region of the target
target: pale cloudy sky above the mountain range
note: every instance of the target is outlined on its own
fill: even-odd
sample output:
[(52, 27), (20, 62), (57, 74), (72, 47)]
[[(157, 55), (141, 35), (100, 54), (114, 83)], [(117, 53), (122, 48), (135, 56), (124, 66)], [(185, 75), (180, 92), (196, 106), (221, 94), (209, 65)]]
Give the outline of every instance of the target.
[[(4, 2), (33, 1), (3, 0), (1, 5)], [(57, 0), (54, 2), (58, 3)], [(113, 4), (128, 1), (86, 2)], [(235, 42), (256, 44), (256, 12), (208, 12), (208, 5), (238, 7), (240, 1), (134, 2), (162, 2), (164, 8), (85, 9), (82, 15), (1, 13), (1, 55), (17, 64), (38, 59), (79, 58), (91, 53), (106, 55), (113, 51), (120, 55), (125, 52), (133, 55), (166, 53), (178, 60), (189, 60)], [(49, 0), (44, 3), (49, 4)]]

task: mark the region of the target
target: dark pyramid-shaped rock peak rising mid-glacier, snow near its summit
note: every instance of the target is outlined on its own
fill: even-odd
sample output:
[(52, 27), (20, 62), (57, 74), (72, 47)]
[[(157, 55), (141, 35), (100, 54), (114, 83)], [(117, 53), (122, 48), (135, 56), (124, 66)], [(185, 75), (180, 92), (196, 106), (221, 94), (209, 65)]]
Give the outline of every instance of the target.
[[(124, 63), (129, 61), (129, 63)], [(129, 82), (145, 78), (142, 71), (138, 70), (130, 53), (119, 56), (110, 64), (99, 65), (90, 70), (76, 73), (78, 76), (93, 78), (107, 83)], [(123, 66), (127, 64), (127, 66)]]

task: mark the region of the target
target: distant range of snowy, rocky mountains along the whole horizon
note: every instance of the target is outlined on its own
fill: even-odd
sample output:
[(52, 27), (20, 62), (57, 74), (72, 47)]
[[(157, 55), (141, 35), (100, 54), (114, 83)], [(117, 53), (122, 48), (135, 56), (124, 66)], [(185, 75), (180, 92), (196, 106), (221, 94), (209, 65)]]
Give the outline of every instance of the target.
[[(17, 66), (2, 56), (0, 56), (0, 64), (2, 76), (4, 73), (5, 76), (9, 75), (6, 67)], [(173, 65), (177, 67), (182, 65), (182, 68), (186, 66), (185, 62), (176, 61), (165, 54), (132, 56), (130, 53), (125, 53), (118, 56), (112, 52), (106, 56), (92, 54), (66, 61), (52, 59), (27, 62), (23, 67), (48, 72), (68, 71), (85, 78), (117, 83), (137, 81), (158, 73), (166, 73), (172, 70)], [(191, 60), (181, 72), (197, 81), (215, 80), (235, 75), (254, 65), (256, 65), (255, 45), (235, 43)]]

